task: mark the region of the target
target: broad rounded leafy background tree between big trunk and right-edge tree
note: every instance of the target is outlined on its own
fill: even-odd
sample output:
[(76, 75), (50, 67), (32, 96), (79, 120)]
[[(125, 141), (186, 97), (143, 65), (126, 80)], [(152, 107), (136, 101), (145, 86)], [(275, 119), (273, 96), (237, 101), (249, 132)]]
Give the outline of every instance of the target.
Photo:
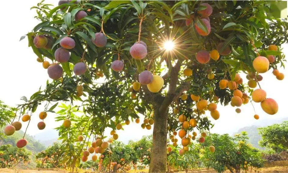
[[(248, 166), (260, 168), (264, 166), (261, 152), (247, 143), (247, 133), (236, 135), (234, 138), (228, 134), (211, 134), (206, 137), (203, 151), (200, 155), (201, 161), (206, 167), (212, 167), (216, 171), (240, 172), (241, 169), (248, 170)], [(215, 147), (215, 152), (209, 150), (209, 145)]]

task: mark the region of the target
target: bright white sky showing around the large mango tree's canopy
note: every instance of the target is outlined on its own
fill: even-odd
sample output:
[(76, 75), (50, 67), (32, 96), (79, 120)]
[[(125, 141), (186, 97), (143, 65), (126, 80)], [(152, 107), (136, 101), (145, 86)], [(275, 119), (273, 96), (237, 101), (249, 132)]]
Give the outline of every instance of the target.
[[(36, 55), (33, 53), (32, 48), (28, 48), (28, 40), (19, 42), (21, 36), (25, 35), (33, 29), (35, 25), (39, 23), (34, 16), (35, 10), (30, 10), (30, 7), (36, 5), (39, 0), (31, 1), (17, 1), (17, 6), (13, 7), (13, 11), (18, 13), (12, 13), (11, 8), (2, 8), (1, 16), (2, 24), (0, 32), (2, 33), (2, 60), (0, 63), (1, 85), (0, 85), (0, 99), (9, 106), (16, 106), (21, 103), (21, 96), (29, 98), (35, 93), (39, 87), (46, 86), (46, 80), (48, 79), (47, 70), (43, 69), (42, 64), (36, 61)], [(46, 3), (57, 4), (58, 1), (46, 1)], [(15, 22), (16, 21), (16, 22)], [(288, 45), (282, 46), (286, 57), (288, 57)], [(287, 65), (287, 64), (286, 64)], [(285, 78), (279, 81), (272, 75), (272, 71), (268, 71), (263, 74), (263, 80), (260, 82), (262, 89), (267, 93), (267, 98), (273, 98), (279, 105), (279, 111), (275, 115), (266, 114), (260, 107), (260, 103), (254, 103), (256, 113), (260, 116), (261, 120), (270, 121), (271, 119), (281, 119), (287, 117), (286, 112), (286, 99), (288, 87), (288, 70), (283, 68), (279, 69), (284, 73)], [(244, 83), (247, 83), (245, 74), (241, 74)], [(233, 133), (238, 128), (253, 125), (257, 122), (253, 118), (254, 110), (252, 105), (241, 106), (242, 112), (237, 114), (235, 107), (217, 105), (220, 112), (220, 118), (215, 121), (210, 117), (209, 111), (206, 112), (207, 116), (215, 126), (211, 129), (213, 133)], [(40, 131), (37, 128), (39, 122), (38, 113), (41, 112), (41, 106), (37, 109), (36, 113), (31, 118), (31, 125), (28, 127), (27, 133), (35, 135), (37, 133), (53, 129), (62, 124), (62, 122), (54, 121), (56, 114), (48, 113), (48, 117), (45, 119), (46, 128)], [(143, 122), (141, 119), (140, 122)], [(23, 127), (26, 127), (27, 122), (23, 123)], [(125, 131), (117, 132), (119, 140), (127, 141), (129, 139), (140, 139), (143, 135), (152, 134), (152, 130), (143, 130), (140, 124), (130, 123), (129, 126), (124, 126)], [(152, 127), (153, 129), (153, 127)], [(110, 133), (108, 130), (107, 133)]]

